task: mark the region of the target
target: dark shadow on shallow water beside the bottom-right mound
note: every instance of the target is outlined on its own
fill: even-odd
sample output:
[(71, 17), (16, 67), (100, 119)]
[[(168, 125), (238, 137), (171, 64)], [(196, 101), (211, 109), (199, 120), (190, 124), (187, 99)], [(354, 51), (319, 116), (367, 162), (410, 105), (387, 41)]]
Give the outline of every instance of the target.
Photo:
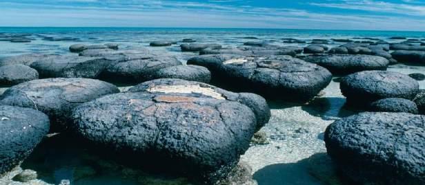
[(272, 164), (253, 177), (259, 185), (354, 185), (338, 174), (326, 153), (316, 153), (296, 163)]

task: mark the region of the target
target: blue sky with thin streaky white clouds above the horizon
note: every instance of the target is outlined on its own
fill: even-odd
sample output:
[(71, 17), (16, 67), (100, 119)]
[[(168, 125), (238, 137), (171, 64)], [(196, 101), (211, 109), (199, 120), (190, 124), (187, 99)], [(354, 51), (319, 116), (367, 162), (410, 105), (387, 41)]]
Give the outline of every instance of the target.
[(425, 31), (425, 0), (1, 0), (0, 26)]

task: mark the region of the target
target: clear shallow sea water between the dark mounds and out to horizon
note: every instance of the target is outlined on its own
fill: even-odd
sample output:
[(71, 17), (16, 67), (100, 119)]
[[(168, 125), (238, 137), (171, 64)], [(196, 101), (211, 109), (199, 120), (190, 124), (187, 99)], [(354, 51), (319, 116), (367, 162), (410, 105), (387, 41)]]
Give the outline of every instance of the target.
[[(370, 32), (370, 31), (333, 31), (333, 30), (231, 30), (231, 29), (137, 29), (137, 28), (0, 28), (0, 32), (32, 33), (31, 43), (9, 43), (0, 41), (0, 58), (27, 53), (51, 53), (75, 55), (68, 47), (75, 43), (98, 44), (119, 43), (121, 49), (147, 47), (148, 50), (177, 56), (180, 61), (196, 53), (180, 52), (179, 45), (170, 47), (148, 47), (150, 41), (180, 41), (196, 39), (199, 43), (219, 43), (224, 47), (236, 47), (246, 41), (271, 41), (276, 45), (284, 44), (280, 39), (293, 38), (310, 41), (311, 39), (353, 39), (353, 37), (374, 37), (389, 42), (389, 36), (409, 36), (425, 38), (424, 32)], [(41, 36), (71, 36), (80, 41), (44, 41)], [(242, 39), (255, 36), (259, 39)], [(329, 46), (344, 43), (330, 43)], [(390, 71), (411, 74), (425, 72), (425, 67), (397, 64)], [(345, 98), (339, 91), (339, 83), (333, 80), (324, 95), (308, 105), (293, 105), (282, 102), (269, 102), (270, 122), (261, 131), (268, 137), (268, 144), (253, 145), (241, 156), (253, 168), (253, 177), (262, 184), (323, 184), (323, 179), (313, 177), (308, 170), (306, 160), (317, 153), (326, 153), (323, 137), (328, 124), (350, 116), (354, 112), (344, 109)], [(421, 89), (425, 81), (419, 82)], [(1, 88), (3, 91), (5, 88)], [(128, 87), (121, 87), (125, 91)], [(72, 184), (188, 184), (179, 177), (161, 177), (127, 168), (114, 162), (103, 160), (79, 149), (78, 144), (59, 142), (62, 136), (48, 138), (37, 147), (24, 162), (23, 168), (31, 168), (39, 173), (39, 178), (52, 184), (61, 179), (70, 179)], [(58, 143), (59, 142), (59, 143)], [(171, 179), (171, 180), (170, 180)]]

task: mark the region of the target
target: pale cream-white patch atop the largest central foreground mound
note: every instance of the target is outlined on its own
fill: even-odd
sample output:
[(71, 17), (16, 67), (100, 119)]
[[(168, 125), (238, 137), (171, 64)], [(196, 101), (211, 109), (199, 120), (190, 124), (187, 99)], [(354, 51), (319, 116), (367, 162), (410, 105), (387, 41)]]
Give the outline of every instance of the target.
[(209, 87), (201, 87), (200, 85), (161, 85), (153, 86), (148, 89), (149, 92), (181, 93), (181, 94), (203, 94), (211, 98), (225, 100), (220, 93)]

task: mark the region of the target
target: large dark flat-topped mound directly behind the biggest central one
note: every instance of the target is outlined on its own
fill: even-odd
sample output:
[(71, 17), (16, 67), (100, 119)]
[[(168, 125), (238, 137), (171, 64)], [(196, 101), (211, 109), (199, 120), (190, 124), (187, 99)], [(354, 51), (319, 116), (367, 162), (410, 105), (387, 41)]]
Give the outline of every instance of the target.
[(248, 91), (294, 101), (313, 98), (332, 78), (324, 67), (291, 56), (204, 55), (188, 64), (207, 67), (216, 78)]

